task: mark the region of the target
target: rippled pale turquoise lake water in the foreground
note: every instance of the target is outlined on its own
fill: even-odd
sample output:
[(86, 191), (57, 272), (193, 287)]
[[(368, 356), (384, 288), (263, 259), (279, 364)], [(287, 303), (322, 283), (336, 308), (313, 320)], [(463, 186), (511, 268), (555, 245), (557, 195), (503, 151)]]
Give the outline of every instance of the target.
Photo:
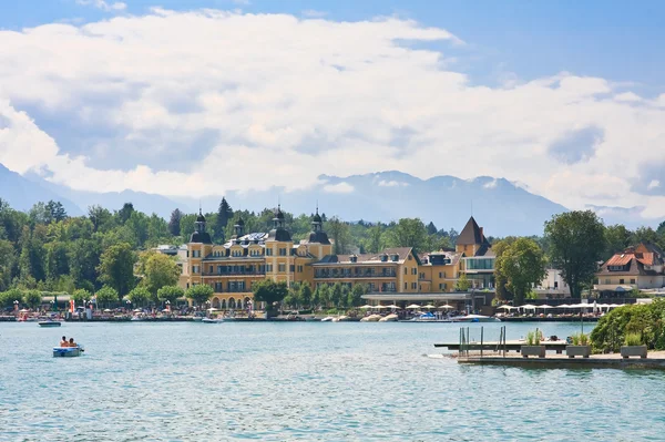
[[(498, 339), (501, 323), (483, 326)], [(515, 339), (536, 325), (507, 327)], [(458, 333), (451, 323), (0, 323), (0, 440), (665, 439), (665, 373), (428, 357)], [(52, 358), (62, 335), (85, 356)]]

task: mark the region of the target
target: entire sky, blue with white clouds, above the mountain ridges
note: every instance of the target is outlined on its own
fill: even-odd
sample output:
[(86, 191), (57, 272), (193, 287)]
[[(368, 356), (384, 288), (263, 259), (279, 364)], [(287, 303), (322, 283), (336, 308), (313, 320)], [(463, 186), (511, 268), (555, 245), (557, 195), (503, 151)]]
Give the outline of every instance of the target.
[(171, 196), (487, 175), (665, 217), (663, 17), (659, 1), (0, 0), (0, 163)]

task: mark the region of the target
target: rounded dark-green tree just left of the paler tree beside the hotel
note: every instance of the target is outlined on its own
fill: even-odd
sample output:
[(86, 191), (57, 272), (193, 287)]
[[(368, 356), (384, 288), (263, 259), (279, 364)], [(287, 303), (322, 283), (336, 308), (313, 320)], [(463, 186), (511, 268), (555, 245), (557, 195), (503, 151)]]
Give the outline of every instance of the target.
[(127, 243), (109, 247), (98, 266), (100, 281), (108, 284), (116, 292), (126, 295), (134, 287), (134, 263), (136, 255)]

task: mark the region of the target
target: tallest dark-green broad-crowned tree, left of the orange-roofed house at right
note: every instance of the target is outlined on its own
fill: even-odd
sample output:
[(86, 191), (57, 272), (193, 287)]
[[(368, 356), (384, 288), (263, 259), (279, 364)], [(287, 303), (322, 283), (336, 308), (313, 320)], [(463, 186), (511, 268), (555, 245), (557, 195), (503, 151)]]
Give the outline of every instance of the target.
[(582, 287), (592, 282), (603, 257), (605, 228), (602, 222), (591, 210), (563, 213), (545, 223), (545, 237), (552, 265), (561, 270), (571, 296), (580, 298)]

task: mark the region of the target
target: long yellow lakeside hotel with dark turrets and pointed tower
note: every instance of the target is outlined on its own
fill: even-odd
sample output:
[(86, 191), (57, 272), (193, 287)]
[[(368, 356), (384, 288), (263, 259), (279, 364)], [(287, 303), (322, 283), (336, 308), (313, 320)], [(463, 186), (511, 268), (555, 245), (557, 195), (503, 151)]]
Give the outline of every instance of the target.
[[(336, 282), (349, 288), (362, 284), (369, 289), (366, 299), (460, 300), (459, 296), (441, 296), (454, 291), (463, 273), (474, 284), (483, 281), (487, 271), (477, 268), (482, 263), (475, 260), (485, 259), (490, 249), (473, 218), (460, 234), (454, 251), (422, 255), (411, 247), (388, 248), (378, 254), (332, 255), (318, 208), (309, 237), (299, 244), (294, 244), (280, 207), (275, 212), (270, 232), (245, 234), (244, 228), (239, 219), (231, 240), (213, 245), (205, 217), (198, 214), (187, 244), (181, 284), (184, 288), (209, 285), (214, 290), (212, 307), (246, 308), (253, 298), (252, 286), (266, 278), (288, 286), (307, 282), (313, 289)], [(490, 273), (493, 274), (493, 264)]]

